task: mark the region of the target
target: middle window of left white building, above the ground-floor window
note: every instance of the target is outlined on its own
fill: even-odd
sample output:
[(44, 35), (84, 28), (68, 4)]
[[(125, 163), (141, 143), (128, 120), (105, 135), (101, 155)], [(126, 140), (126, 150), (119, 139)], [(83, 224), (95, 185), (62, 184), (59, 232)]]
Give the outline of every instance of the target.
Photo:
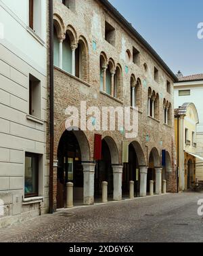
[(41, 82), (33, 75), (29, 76), (29, 115), (41, 119)]

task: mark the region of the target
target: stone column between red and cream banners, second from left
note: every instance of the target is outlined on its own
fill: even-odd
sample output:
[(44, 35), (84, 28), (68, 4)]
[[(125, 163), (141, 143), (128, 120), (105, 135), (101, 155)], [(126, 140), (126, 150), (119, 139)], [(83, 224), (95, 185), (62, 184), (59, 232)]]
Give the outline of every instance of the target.
[(122, 168), (123, 166), (112, 166), (114, 173), (114, 201), (122, 200)]

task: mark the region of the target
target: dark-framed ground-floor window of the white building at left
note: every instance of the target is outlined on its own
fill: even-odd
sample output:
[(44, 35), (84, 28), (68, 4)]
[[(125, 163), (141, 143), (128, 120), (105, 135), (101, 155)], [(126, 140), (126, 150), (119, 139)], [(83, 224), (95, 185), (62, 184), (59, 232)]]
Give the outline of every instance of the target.
[(26, 153), (24, 173), (24, 196), (39, 196), (39, 155)]

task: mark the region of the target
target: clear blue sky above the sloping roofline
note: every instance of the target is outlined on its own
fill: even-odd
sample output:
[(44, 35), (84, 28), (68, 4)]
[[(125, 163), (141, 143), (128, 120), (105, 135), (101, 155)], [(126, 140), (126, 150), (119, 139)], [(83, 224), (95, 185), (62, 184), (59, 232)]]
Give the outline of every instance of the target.
[(203, 73), (203, 0), (109, 0), (176, 74)]

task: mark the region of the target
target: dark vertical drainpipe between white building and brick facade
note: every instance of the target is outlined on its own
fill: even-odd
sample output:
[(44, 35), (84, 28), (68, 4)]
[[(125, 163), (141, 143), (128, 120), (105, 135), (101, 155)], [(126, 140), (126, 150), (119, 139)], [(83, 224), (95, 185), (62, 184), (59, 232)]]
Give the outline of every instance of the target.
[(49, 1), (49, 213), (53, 213), (53, 0)]

